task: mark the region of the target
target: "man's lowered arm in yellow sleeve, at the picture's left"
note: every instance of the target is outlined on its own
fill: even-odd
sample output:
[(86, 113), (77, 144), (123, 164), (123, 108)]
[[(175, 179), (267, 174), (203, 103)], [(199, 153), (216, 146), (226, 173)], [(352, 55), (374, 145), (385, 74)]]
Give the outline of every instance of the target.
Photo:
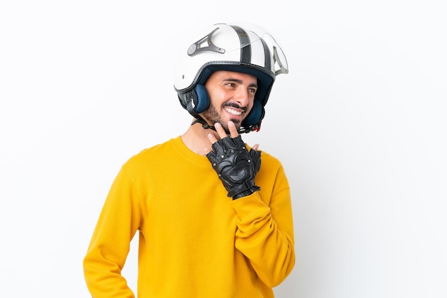
[(111, 186), (84, 257), (84, 277), (92, 297), (134, 298), (121, 275), (139, 212), (131, 179), (121, 169)]

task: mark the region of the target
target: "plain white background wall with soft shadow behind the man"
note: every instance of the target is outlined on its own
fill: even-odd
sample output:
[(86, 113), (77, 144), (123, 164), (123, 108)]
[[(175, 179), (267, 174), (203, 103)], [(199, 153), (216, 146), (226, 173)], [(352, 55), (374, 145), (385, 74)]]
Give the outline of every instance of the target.
[(231, 21), (271, 31), (290, 66), (244, 136), (292, 187), (296, 266), (277, 297), (447, 297), (441, 3), (1, 1), (0, 297), (89, 297), (82, 259), (114, 176), (191, 121), (174, 57)]

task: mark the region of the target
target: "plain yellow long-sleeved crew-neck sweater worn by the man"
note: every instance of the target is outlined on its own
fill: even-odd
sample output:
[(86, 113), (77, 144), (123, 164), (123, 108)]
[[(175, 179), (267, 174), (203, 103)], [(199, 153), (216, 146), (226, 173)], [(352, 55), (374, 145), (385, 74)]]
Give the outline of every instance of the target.
[(181, 137), (134, 155), (111, 186), (84, 258), (92, 297), (134, 297), (121, 269), (136, 231), (137, 297), (273, 297), (295, 253), (288, 180), (265, 152), (256, 185), (260, 191), (233, 201), (209, 160)]

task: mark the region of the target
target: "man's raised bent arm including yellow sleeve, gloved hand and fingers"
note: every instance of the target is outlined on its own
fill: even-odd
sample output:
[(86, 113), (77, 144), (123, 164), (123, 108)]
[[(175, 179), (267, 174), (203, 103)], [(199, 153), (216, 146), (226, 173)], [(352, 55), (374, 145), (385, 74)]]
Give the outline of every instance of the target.
[[(256, 161), (257, 166), (246, 160), (258, 159), (260, 152), (253, 149), (248, 152), (245, 146), (239, 150), (240, 136), (231, 121), (228, 122), (230, 137), (219, 123), (215, 126), (221, 140), (209, 134), (214, 151), (207, 156), (228, 196), (233, 197), (233, 208), (238, 215), (236, 248), (250, 260), (258, 277), (269, 287), (275, 287), (286, 279), (295, 264), (288, 180), (282, 165), (271, 158), (257, 175), (261, 159)], [(253, 148), (257, 149), (258, 145)], [(255, 176), (261, 189), (254, 183)], [(234, 190), (243, 191), (235, 196)]]

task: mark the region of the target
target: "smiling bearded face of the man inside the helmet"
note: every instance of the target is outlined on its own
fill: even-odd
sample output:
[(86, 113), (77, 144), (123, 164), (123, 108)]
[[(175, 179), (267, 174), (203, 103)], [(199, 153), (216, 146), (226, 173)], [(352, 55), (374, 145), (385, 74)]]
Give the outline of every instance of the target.
[(227, 124), (232, 120), (236, 128), (241, 127), (253, 108), (254, 95), (258, 88), (255, 76), (233, 71), (216, 71), (205, 83), (209, 93), (209, 108), (201, 116), (209, 125), (219, 122), (228, 133)]

